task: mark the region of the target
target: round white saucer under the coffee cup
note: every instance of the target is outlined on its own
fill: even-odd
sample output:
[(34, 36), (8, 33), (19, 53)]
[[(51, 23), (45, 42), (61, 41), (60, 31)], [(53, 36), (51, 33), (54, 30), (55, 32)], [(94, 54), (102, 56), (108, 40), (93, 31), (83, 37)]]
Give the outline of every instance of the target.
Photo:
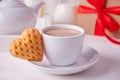
[(82, 55), (80, 58), (76, 61), (75, 64), (71, 66), (66, 67), (58, 67), (53, 66), (49, 64), (48, 60), (46, 58), (43, 59), (42, 62), (29, 62), (34, 67), (36, 67), (40, 71), (44, 71), (51, 74), (56, 75), (68, 75), (68, 74), (74, 74), (81, 71), (84, 71), (94, 65), (99, 60), (99, 54), (98, 52), (90, 47), (85, 47), (83, 49)]

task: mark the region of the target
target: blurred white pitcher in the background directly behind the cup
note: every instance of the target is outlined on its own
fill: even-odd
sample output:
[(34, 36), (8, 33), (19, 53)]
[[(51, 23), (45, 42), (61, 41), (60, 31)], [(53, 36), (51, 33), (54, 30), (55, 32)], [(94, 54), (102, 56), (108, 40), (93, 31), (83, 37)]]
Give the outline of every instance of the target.
[(60, 0), (54, 14), (54, 24), (77, 24), (77, 2), (75, 0)]

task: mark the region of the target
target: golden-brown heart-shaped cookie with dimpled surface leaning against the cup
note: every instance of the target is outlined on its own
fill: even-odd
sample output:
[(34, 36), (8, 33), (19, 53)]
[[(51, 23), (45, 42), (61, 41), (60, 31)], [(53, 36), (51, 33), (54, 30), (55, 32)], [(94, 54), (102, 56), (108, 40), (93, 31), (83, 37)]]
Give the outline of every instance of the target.
[(17, 58), (29, 61), (42, 61), (42, 36), (37, 29), (28, 28), (23, 31), (21, 38), (10, 42), (9, 52)]

